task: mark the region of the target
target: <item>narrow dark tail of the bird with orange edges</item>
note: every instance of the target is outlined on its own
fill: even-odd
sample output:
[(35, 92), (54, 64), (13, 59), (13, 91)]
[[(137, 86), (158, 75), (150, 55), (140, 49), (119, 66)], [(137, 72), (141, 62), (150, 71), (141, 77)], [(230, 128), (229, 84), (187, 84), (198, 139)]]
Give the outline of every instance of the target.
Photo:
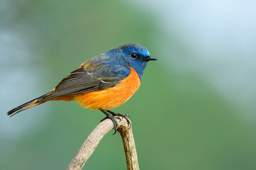
[(45, 103), (48, 100), (43, 100), (43, 97), (47, 96), (48, 94), (45, 94), (43, 96), (40, 96), (38, 98), (33, 99), (32, 101), (28, 101), (27, 103), (23, 103), (21, 106), (18, 106), (11, 111), (7, 113), (7, 115), (13, 116), (16, 115), (17, 113), (24, 111), (28, 108), (32, 108), (33, 106), (38, 106), (41, 103)]

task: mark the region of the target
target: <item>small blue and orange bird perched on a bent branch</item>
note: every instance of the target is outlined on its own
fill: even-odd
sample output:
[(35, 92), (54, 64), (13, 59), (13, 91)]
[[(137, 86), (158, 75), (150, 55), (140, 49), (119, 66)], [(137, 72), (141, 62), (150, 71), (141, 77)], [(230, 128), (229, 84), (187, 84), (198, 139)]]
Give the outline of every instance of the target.
[(100, 110), (112, 120), (117, 132), (118, 116), (131, 125), (129, 115), (110, 110), (121, 106), (139, 89), (146, 64), (157, 60), (143, 45), (127, 44), (92, 57), (70, 72), (53, 90), (23, 103), (7, 113), (10, 117), (46, 101), (77, 101), (80, 106)]

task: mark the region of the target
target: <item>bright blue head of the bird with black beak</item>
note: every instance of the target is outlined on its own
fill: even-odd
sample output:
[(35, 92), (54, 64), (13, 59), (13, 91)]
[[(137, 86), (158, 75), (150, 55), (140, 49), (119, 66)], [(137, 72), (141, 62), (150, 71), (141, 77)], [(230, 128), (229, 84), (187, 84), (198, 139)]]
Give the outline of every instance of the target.
[(120, 64), (123, 64), (126, 67), (132, 67), (141, 80), (147, 62), (156, 60), (155, 58), (150, 57), (146, 47), (139, 44), (122, 45), (109, 52), (112, 53), (112, 56), (114, 54)]

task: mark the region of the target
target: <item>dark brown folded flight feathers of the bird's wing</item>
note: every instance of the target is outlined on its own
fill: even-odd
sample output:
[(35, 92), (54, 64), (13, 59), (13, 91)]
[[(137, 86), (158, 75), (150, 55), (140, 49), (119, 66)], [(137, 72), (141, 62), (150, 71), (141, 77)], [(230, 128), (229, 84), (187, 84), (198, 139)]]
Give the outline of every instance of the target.
[(60, 81), (60, 83), (55, 87), (55, 90), (51, 91), (46, 96), (43, 96), (40, 101), (46, 101), (61, 96), (72, 96), (92, 91), (99, 91), (115, 86), (116, 84), (119, 84), (120, 81), (121, 79), (104, 81), (104, 79), (94, 77), (84, 67), (80, 67)]

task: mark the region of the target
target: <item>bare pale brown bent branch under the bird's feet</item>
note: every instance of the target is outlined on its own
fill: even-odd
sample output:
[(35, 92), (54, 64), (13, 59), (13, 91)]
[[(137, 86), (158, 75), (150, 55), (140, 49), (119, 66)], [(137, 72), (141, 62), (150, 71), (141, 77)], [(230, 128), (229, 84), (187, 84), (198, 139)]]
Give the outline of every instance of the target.
[[(124, 144), (124, 152), (127, 159), (127, 169), (128, 170), (139, 170), (139, 164), (137, 160), (137, 152), (134, 143), (134, 137), (132, 134), (132, 128), (129, 127), (127, 120), (119, 117), (121, 121), (117, 119), (118, 126), (117, 131), (122, 137)], [(78, 152), (73, 157), (72, 161), (68, 165), (67, 170), (80, 170), (87, 162), (87, 159), (96, 149), (97, 145), (102, 140), (102, 137), (107, 134), (110, 130), (114, 128), (112, 120), (106, 119), (102, 121), (97, 127), (92, 130), (90, 135), (87, 137), (85, 142), (82, 144)]]

